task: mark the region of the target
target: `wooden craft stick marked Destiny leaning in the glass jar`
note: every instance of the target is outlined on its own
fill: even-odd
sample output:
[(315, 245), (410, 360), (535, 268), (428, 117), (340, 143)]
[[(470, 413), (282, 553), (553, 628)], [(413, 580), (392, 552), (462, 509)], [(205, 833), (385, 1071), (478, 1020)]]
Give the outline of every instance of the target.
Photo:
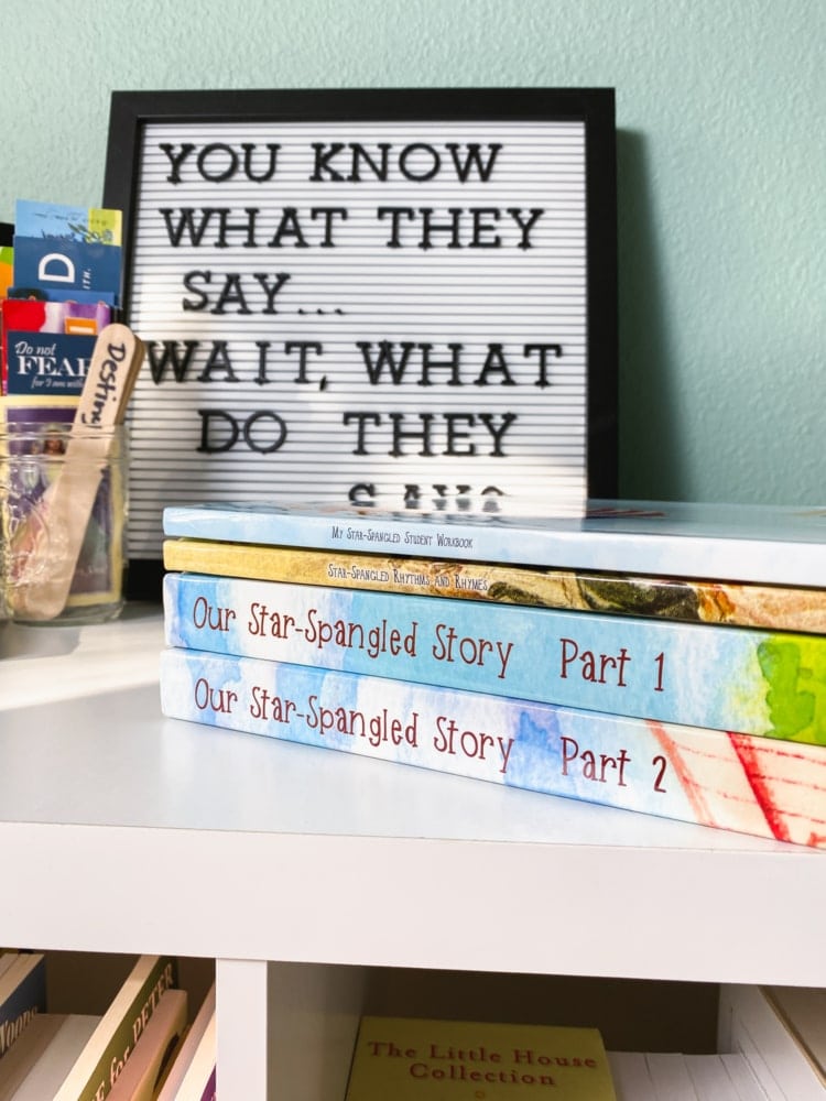
[(113, 429), (123, 422), (143, 355), (141, 340), (119, 323), (95, 342), (59, 475), (39, 503), (42, 522), (24, 521), (12, 537), (7, 601), (20, 619), (51, 620), (66, 607)]

